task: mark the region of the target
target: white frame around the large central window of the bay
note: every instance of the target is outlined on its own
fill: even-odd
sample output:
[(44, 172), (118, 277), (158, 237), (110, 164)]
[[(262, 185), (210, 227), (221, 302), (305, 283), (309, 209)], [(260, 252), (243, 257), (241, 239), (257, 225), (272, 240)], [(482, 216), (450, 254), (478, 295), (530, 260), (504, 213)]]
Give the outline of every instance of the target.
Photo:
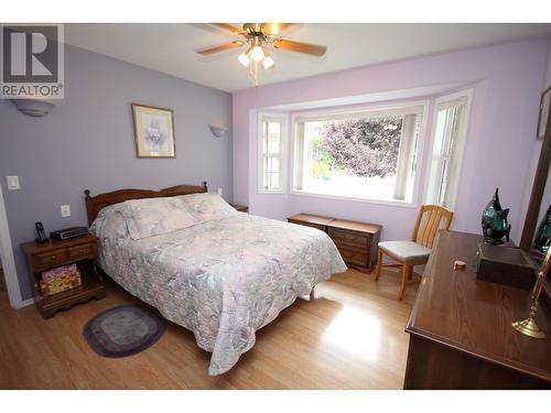
[[(395, 104), (385, 104), (385, 105), (368, 105), (368, 106), (360, 106), (360, 107), (354, 107), (354, 108), (344, 108), (344, 109), (324, 109), (324, 110), (307, 110), (307, 111), (298, 111), (298, 112), (291, 112), (291, 120), (290, 124), (292, 127), (292, 133), (291, 133), (291, 151), (292, 153), (290, 154), (290, 173), (289, 173), (289, 180), (288, 180), (288, 185), (289, 185), (289, 193), (292, 195), (299, 195), (299, 196), (309, 196), (309, 197), (318, 197), (318, 198), (326, 198), (326, 199), (341, 199), (341, 200), (353, 200), (353, 202), (359, 202), (359, 203), (365, 203), (365, 204), (377, 204), (377, 205), (391, 205), (391, 206), (402, 206), (402, 207), (410, 207), (410, 208), (417, 208), (419, 206), (419, 200), (421, 198), (420, 191), (422, 188), (422, 174), (421, 172), (423, 171), (423, 151), (424, 151), (424, 141), (426, 137), (426, 124), (428, 122), (428, 116), (429, 116), (429, 108), (430, 108), (431, 100), (430, 99), (422, 99), (422, 100), (406, 100), (406, 101), (400, 101), (400, 102), (395, 102)], [(354, 116), (359, 116), (361, 117), (363, 113), (369, 112), (376, 113), (381, 112), (382, 113), (389, 113), (389, 112), (400, 112), (400, 110), (403, 109), (414, 109), (419, 108), (415, 111), (411, 111), (411, 113), (420, 113), (422, 116), (421, 119), (421, 130), (419, 131), (419, 141), (418, 141), (418, 151), (417, 151), (417, 170), (415, 170), (415, 180), (413, 183), (413, 192), (411, 196), (411, 202), (406, 202), (406, 200), (391, 200), (391, 199), (372, 199), (372, 198), (363, 198), (363, 197), (353, 197), (353, 196), (344, 196), (344, 195), (331, 195), (331, 194), (320, 194), (320, 193), (309, 193), (305, 191), (295, 191), (294, 189), (294, 174), (295, 174), (295, 165), (294, 165), (294, 154), (296, 152), (296, 123), (298, 122), (304, 122), (304, 121), (315, 121), (315, 120), (326, 120), (326, 119), (336, 119), (341, 117), (345, 117), (347, 113), (352, 113)], [(400, 112), (403, 113), (403, 112)]]

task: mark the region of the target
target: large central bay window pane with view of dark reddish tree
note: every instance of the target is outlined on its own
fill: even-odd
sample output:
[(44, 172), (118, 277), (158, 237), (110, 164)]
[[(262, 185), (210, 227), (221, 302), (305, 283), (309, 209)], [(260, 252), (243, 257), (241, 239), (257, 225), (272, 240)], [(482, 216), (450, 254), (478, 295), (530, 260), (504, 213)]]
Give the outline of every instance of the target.
[(423, 108), (295, 117), (293, 192), (412, 203)]

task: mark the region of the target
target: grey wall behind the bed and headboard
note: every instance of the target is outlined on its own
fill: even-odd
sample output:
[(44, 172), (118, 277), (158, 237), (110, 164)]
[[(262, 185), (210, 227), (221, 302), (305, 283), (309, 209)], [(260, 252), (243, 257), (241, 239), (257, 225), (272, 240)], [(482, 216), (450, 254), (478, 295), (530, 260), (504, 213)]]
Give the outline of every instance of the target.
[[(176, 159), (137, 159), (130, 102), (174, 110)], [(228, 135), (213, 137), (213, 122)], [(231, 95), (76, 47), (65, 48), (65, 99), (44, 118), (0, 100), (0, 182), (23, 300), (31, 297), (20, 243), (86, 225), (85, 188), (159, 189), (207, 181), (231, 200)], [(19, 175), (20, 191), (6, 176)], [(228, 198), (229, 196), (229, 198)], [(72, 216), (61, 217), (69, 204)]]

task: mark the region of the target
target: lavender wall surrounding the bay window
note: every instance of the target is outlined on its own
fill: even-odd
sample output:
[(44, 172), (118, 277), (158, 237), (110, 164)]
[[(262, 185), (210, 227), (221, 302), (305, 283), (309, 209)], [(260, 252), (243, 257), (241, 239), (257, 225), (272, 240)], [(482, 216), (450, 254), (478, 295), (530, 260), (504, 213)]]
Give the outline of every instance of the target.
[[(249, 118), (260, 108), (439, 85), (474, 86), (453, 228), (479, 232), (480, 211), (496, 186), (510, 207), (519, 238), (522, 196), (536, 134), (548, 40), (532, 40), (433, 55), (247, 89), (234, 94), (234, 198), (252, 214), (277, 219), (299, 211), (383, 225), (382, 239), (410, 237), (417, 208), (363, 202), (259, 195), (256, 191), (256, 130)], [(250, 129), (250, 130), (249, 130)], [(430, 130), (430, 128), (429, 128)], [(424, 145), (424, 176), (429, 144)]]

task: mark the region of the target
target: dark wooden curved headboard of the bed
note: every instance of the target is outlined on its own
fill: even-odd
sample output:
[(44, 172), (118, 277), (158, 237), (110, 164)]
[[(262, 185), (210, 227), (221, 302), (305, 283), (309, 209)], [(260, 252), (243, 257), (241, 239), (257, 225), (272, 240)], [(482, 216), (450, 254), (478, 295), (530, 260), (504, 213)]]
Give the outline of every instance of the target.
[(202, 185), (176, 185), (160, 191), (149, 189), (119, 189), (90, 196), (90, 189), (86, 189), (86, 213), (88, 214), (88, 225), (94, 222), (101, 208), (106, 206), (123, 203), (129, 199), (158, 198), (162, 196), (177, 196), (207, 192), (206, 182)]

